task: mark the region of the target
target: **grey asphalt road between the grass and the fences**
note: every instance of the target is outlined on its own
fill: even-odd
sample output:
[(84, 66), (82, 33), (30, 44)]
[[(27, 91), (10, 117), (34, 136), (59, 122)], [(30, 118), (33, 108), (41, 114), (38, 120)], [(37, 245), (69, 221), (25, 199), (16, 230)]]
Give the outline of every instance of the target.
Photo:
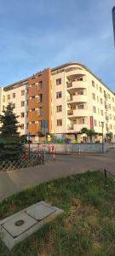
[(106, 154), (46, 155), (43, 166), (0, 173), (0, 201), (23, 189), (88, 170), (106, 170), (115, 175), (115, 149)]

